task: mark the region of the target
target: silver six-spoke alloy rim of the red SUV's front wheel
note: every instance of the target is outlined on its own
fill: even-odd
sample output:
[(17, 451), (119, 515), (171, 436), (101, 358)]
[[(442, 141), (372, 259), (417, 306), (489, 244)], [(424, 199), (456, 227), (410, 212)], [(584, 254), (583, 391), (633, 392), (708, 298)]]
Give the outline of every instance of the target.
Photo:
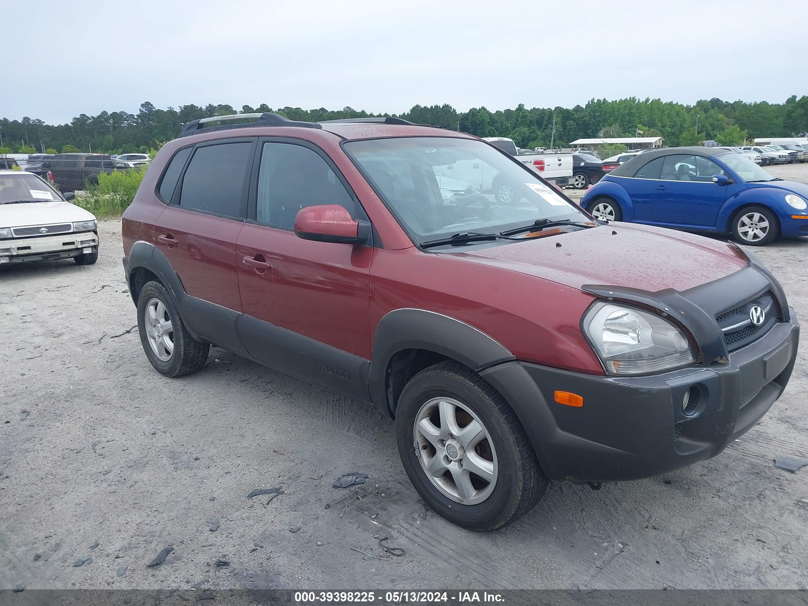
[(415, 416), (415, 446), (423, 473), (442, 494), (464, 505), (494, 491), (498, 465), (486, 426), (453, 398), (432, 398)]

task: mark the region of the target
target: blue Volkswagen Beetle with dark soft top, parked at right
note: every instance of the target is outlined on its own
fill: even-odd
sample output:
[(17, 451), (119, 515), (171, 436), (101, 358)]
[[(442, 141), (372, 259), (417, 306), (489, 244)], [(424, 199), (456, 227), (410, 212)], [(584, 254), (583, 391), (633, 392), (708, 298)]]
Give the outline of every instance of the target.
[(638, 154), (581, 200), (597, 219), (733, 234), (761, 246), (808, 236), (808, 185), (769, 175), (724, 149), (672, 147)]

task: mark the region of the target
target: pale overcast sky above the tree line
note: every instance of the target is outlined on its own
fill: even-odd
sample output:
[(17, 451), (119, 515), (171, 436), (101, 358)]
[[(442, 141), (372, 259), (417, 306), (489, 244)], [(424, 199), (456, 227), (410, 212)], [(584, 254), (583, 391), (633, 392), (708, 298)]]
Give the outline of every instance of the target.
[(143, 101), (404, 112), (808, 94), (806, 0), (36, 0), (5, 2), (2, 20), (0, 117), (49, 124)]

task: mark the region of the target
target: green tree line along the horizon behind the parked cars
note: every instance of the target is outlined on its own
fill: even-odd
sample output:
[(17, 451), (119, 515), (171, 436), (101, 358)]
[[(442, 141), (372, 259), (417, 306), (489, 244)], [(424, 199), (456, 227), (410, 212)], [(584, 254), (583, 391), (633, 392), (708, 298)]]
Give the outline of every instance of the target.
[[(336, 120), (372, 114), (343, 107), (341, 110), (277, 107), (262, 103), (258, 107), (244, 105), (237, 110), (229, 105), (181, 105), (179, 109), (159, 109), (148, 101), (141, 103), (137, 114), (100, 112), (97, 116), (81, 114), (69, 124), (45, 124), (43, 120), (0, 120), (0, 136), (5, 149), (0, 152), (32, 154), (42, 149), (89, 151), (109, 154), (145, 152), (158, 148), (177, 136), (183, 124), (198, 118), (235, 113), (278, 112), (292, 120)], [(457, 112), (451, 105), (416, 105), (409, 112), (393, 114), (419, 124), (435, 124), (461, 130), (478, 137), (511, 137), (520, 147), (566, 147), (570, 141), (589, 137), (664, 137), (665, 145), (696, 145), (715, 139), (722, 145), (734, 145), (747, 137), (793, 137), (808, 131), (808, 96), (792, 95), (785, 103), (765, 101), (746, 103), (709, 99), (695, 105), (684, 105), (661, 99), (629, 97), (609, 101), (591, 99), (586, 105), (572, 108), (533, 107), (521, 104), (515, 109), (491, 112), (486, 107), (472, 107)], [(553, 116), (555, 131), (553, 133)], [(697, 127), (697, 128), (696, 128)]]

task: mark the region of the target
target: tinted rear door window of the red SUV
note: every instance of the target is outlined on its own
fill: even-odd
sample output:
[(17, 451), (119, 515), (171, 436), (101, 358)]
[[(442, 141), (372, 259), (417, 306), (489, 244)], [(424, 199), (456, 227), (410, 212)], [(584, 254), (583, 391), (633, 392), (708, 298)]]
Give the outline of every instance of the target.
[(196, 149), (185, 170), (179, 205), (205, 213), (239, 217), (250, 149), (251, 141)]

